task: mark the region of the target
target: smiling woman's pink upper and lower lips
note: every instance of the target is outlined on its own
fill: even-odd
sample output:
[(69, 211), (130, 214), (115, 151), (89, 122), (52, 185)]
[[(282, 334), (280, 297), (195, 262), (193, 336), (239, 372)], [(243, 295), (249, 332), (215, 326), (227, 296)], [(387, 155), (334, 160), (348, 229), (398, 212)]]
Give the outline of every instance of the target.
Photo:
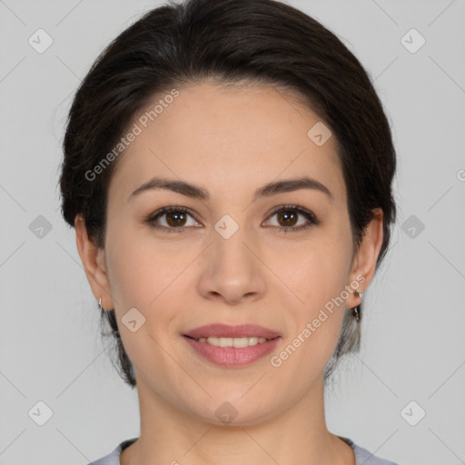
[[(211, 324), (201, 326), (183, 335), (197, 354), (201, 355), (215, 365), (223, 367), (241, 367), (257, 361), (270, 353), (281, 339), (281, 334), (268, 330), (262, 326), (242, 324), (229, 326), (225, 324)], [(207, 341), (198, 341), (200, 338), (241, 338), (256, 337), (266, 338), (268, 341), (259, 342), (248, 347), (218, 347)]]

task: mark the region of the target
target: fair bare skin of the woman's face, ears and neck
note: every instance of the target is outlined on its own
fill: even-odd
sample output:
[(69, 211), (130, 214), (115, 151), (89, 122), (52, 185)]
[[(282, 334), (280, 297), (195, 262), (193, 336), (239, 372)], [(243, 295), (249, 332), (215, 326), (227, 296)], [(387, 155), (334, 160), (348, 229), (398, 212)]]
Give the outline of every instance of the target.
[[(212, 83), (179, 90), (118, 160), (104, 249), (89, 240), (80, 215), (75, 221), (92, 292), (105, 309), (114, 308), (136, 371), (141, 432), (121, 463), (354, 465), (351, 447), (326, 427), (323, 370), (345, 308), (361, 298), (350, 292), (279, 368), (270, 359), (357, 276), (364, 277), (357, 290), (366, 291), (381, 248), (382, 212), (375, 212), (353, 254), (334, 137), (322, 146), (313, 143), (307, 133), (320, 118), (289, 94), (270, 86), (231, 91)], [(128, 200), (155, 175), (201, 186), (210, 198), (156, 189)], [(264, 184), (302, 175), (324, 184), (331, 197), (301, 188), (252, 202)], [(295, 204), (320, 223), (292, 232), (308, 223), (302, 213), (293, 223), (272, 213)], [(157, 225), (181, 233), (144, 221), (172, 205), (189, 210), (185, 221), (168, 213)], [(239, 226), (229, 239), (214, 229), (225, 214)], [(133, 307), (145, 318), (135, 332), (121, 322)], [(259, 324), (282, 339), (248, 366), (219, 367), (183, 338), (215, 322)], [(223, 402), (237, 411), (230, 424), (215, 415)]]

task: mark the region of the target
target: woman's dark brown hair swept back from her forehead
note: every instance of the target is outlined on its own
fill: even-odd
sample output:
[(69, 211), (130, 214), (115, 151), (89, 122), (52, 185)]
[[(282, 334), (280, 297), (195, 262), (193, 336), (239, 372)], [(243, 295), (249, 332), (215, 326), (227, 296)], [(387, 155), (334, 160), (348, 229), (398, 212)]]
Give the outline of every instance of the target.
[[(104, 248), (108, 185), (124, 153), (93, 181), (85, 173), (112, 151), (154, 95), (204, 80), (276, 86), (297, 95), (331, 128), (355, 252), (372, 210), (383, 211), (378, 269), (396, 217), (390, 124), (368, 74), (339, 38), (311, 16), (274, 0), (172, 1), (143, 15), (105, 48), (80, 84), (68, 115), (60, 177), (66, 223), (74, 226), (76, 214), (82, 213), (89, 237)], [(114, 310), (103, 315), (118, 347), (118, 371), (135, 387), (134, 366)], [(341, 355), (359, 349), (360, 337), (360, 323), (346, 309), (325, 381)]]

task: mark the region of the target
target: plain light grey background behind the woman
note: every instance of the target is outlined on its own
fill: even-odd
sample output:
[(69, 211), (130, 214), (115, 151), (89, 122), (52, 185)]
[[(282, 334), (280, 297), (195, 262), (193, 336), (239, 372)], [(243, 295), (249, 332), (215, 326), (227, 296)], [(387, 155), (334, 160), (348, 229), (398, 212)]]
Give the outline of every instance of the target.
[[(401, 465), (465, 463), (465, 1), (288, 3), (367, 68), (399, 155), (391, 252), (366, 294), (361, 352), (327, 392), (328, 427)], [(86, 464), (139, 434), (57, 182), (78, 84), (159, 4), (0, 0), (1, 464)], [(28, 43), (39, 28), (54, 41), (42, 54)], [(416, 53), (401, 42), (411, 28), (426, 40)], [(43, 426), (28, 413), (38, 401), (53, 411)]]

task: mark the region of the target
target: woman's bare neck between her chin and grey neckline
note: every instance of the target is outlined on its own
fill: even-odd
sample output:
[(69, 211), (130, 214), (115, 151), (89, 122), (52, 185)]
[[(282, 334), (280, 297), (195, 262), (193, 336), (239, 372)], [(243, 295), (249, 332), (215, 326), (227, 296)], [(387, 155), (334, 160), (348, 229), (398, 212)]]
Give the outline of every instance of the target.
[[(138, 380), (141, 434), (121, 465), (354, 465), (351, 447), (327, 430), (323, 382), (272, 417), (216, 425), (181, 411)], [(292, 398), (292, 396), (290, 396)]]

